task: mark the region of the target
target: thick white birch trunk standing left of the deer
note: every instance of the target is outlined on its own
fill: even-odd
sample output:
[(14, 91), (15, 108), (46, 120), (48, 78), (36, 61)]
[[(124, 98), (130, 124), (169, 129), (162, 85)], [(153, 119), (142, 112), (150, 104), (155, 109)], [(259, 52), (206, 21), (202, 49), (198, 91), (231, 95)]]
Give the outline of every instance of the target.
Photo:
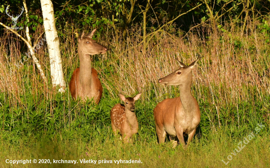
[(40, 0), (45, 28), (45, 35), (49, 50), (51, 76), (53, 86), (60, 86), (58, 91), (64, 92), (66, 84), (64, 81), (62, 59), (60, 54), (59, 39), (55, 27), (54, 6), (51, 0)]

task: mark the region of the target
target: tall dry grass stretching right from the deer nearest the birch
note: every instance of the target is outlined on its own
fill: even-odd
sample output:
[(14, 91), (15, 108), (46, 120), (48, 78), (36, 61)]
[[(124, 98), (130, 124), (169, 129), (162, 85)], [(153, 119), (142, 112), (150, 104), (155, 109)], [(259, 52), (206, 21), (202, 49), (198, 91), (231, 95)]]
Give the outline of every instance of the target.
[(249, 87), (255, 87), (259, 95), (270, 93), (270, 47), (265, 42), (267, 37), (257, 31), (243, 36), (240, 32), (218, 30), (216, 34), (209, 33), (207, 38), (199, 38), (197, 33), (190, 33), (187, 38), (162, 33), (149, 43), (146, 55), (141, 52), (138, 33), (133, 33), (125, 47), (114, 44), (113, 54), (104, 58), (109, 60), (107, 66), (113, 67), (111, 76), (103, 73), (106, 65), (96, 68), (111, 93), (132, 94), (137, 90), (144, 92), (144, 100), (149, 100), (154, 89), (157, 100), (161, 101), (166, 93), (168, 97), (175, 96), (170, 94), (174, 94), (171, 86), (163, 87), (157, 83), (159, 78), (178, 68), (175, 59), (191, 63), (200, 57), (199, 66), (193, 71), (198, 98), (206, 99), (198, 89), (205, 86), (212, 95), (209, 101), (214, 102), (215, 95), (222, 95), (219, 103), (237, 104), (250, 98)]

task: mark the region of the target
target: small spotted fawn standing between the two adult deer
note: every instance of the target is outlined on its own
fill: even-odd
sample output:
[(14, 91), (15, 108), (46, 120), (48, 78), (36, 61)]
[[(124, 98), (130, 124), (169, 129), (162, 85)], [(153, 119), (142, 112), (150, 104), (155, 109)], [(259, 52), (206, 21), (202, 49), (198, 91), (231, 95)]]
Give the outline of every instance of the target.
[(135, 101), (140, 98), (141, 93), (135, 97), (127, 97), (119, 94), (120, 99), (124, 102), (122, 104), (116, 104), (110, 110), (110, 121), (112, 131), (117, 136), (117, 131), (120, 131), (124, 143), (129, 142), (129, 138), (133, 134), (138, 132), (138, 122), (135, 115)]

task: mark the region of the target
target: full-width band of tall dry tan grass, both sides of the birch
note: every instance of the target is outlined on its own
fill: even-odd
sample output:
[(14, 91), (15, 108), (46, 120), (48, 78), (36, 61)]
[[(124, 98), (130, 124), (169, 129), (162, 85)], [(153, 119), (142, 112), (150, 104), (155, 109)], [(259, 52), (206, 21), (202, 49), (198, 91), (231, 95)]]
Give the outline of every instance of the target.
[[(160, 86), (157, 80), (178, 68), (175, 59), (189, 64), (200, 57), (199, 65), (193, 71), (192, 87), (199, 101), (208, 101), (216, 107), (228, 103), (236, 105), (252, 99), (250, 88), (255, 88), (257, 92), (254, 94), (258, 94), (262, 100), (263, 94), (270, 94), (270, 46), (260, 30), (252, 26), (247, 28), (244, 35), (237, 29), (228, 31), (230, 27), (224, 27), (227, 32), (217, 29), (214, 33), (208, 31), (207, 27), (201, 27), (200, 31), (208, 33), (202, 36), (198, 31), (193, 31), (185, 38), (178, 35), (181, 33), (177, 31), (171, 34), (158, 33), (148, 44), (145, 55), (142, 52), (140, 27), (134, 26), (125, 42), (117, 42), (115, 36), (109, 35), (107, 31), (97, 40), (108, 46), (108, 54), (94, 56), (92, 64), (98, 70), (100, 80), (111, 98), (116, 98), (119, 92), (133, 95), (138, 91), (143, 92), (143, 101), (155, 99), (157, 103), (166, 97), (179, 96), (176, 87)], [(86, 29), (90, 31), (91, 28)], [(60, 37), (60, 47), (67, 84), (73, 70), (79, 67), (77, 30), (72, 23), (59, 30), (64, 34)], [(39, 27), (33, 39), (42, 31), (42, 27)], [(23, 62), (24, 67), (15, 66), (25, 56), (22, 53), (26, 47), (23, 42), (7, 30), (0, 37), (0, 42), (0, 90), (9, 98), (9, 104), (25, 106), (20, 96), (27, 95), (27, 89), (37, 99), (54, 96), (54, 90), (50, 84), (43, 83), (32, 60)], [(36, 55), (49, 78), (46, 46), (41, 46)], [(10, 68), (15, 68), (13, 74)], [(206, 97), (202, 87), (208, 88), (211, 96)]]

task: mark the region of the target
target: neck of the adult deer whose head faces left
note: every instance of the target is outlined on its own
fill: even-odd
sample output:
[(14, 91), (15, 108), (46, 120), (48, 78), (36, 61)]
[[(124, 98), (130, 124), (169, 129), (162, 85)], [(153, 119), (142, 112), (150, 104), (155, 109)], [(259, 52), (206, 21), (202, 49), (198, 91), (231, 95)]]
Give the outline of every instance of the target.
[(187, 84), (179, 85), (180, 99), (184, 111), (193, 111), (196, 102), (194, 102), (194, 97), (191, 94), (191, 81)]

